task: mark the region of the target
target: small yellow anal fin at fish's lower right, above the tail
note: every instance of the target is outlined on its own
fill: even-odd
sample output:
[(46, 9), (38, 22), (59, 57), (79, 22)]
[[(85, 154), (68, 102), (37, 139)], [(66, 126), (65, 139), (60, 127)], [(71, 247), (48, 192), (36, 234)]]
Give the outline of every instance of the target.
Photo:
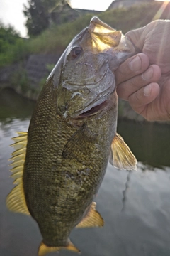
[(103, 227), (104, 220), (100, 213), (96, 211), (96, 203), (91, 203), (91, 208), (86, 216), (77, 225), (77, 228)]

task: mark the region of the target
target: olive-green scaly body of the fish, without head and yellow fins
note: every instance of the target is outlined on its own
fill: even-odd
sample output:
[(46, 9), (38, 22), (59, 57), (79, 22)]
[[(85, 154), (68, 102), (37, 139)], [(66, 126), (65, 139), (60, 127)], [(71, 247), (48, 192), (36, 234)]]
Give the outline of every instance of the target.
[(57, 113), (51, 81), (41, 93), (28, 131), (23, 188), (48, 246), (67, 245), (101, 185), (115, 136), (117, 96), (111, 100), (107, 115), (72, 127)]

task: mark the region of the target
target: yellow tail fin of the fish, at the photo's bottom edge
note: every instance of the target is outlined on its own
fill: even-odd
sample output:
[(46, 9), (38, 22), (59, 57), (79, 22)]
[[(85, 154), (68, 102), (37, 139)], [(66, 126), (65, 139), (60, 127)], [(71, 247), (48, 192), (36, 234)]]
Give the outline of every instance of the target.
[(58, 252), (62, 249), (72, 250), (73, 252), (80, 252), (77, 247), (75, 247), (72, 242), (69, 240), (69, 244), (66, 247), (49, 247), (41, 242), (40, 247), (38, 249), (38, 256), (46, 255), (49, 252)]

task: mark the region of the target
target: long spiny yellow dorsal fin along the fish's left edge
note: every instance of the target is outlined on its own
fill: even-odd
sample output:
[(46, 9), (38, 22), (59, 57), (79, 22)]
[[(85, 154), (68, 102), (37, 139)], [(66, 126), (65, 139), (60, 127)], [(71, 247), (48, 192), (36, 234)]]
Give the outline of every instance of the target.
[(11, 177), (14, 178), (13, 183), (16, 184), (15, 188), (8, 194), (6, 198), (6, 206), (8, 210), (15, 213), (24, 213), (30, 215), (26, 206), (26, 199), (23, 193), (23, 166), (26, 159), (26, 145), (27, 145), (27, 132), (18, 132), (18, 137), (12, 138), (15, 143), (11, 144), (15, 151), (11, 154), (13, 163), (10, 165)]

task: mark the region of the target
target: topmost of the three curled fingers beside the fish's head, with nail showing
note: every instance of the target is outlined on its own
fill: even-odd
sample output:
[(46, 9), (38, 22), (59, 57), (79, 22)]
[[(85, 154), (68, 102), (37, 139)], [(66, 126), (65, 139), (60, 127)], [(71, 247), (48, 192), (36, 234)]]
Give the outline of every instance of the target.
[(145, 53), (138, 53), (125, 60), (120, 67), (115, 70), (115, 79), (117, 85), (130, 78), (143, 73), (149, 67), (149, 58)]

